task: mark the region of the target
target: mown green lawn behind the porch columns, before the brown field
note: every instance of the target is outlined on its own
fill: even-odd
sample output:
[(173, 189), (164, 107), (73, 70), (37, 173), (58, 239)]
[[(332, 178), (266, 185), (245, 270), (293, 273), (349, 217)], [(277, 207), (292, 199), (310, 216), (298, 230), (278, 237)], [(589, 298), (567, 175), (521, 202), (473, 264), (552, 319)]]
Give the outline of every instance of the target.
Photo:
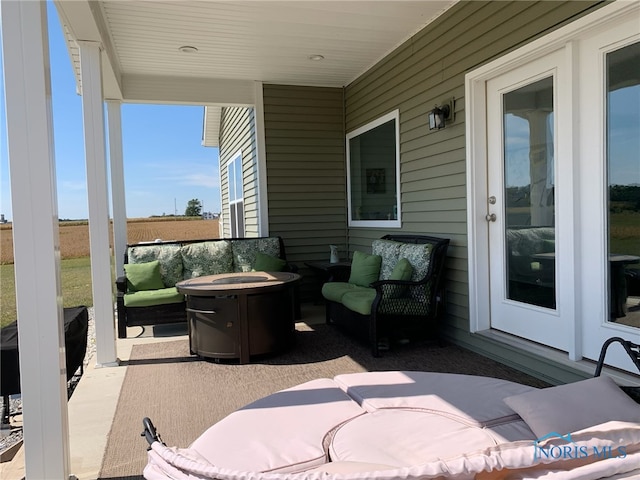
[[(93, 305), (89, 257), (61, 261), (62, 300), (65, 307)], [(0, 326), (16, 319), (16, 287), (13, 264), (0, 265)]]

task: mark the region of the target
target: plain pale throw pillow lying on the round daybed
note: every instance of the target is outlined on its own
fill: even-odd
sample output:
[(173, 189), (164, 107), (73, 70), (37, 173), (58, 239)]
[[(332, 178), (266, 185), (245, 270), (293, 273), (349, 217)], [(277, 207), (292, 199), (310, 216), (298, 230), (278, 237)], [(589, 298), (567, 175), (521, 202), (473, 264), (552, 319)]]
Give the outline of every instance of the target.
[(640, 405), (609, 377), (594, 377), (514, 395), (504, 402), (538, 438), (561, 435), (617, 420), (640, 423)]

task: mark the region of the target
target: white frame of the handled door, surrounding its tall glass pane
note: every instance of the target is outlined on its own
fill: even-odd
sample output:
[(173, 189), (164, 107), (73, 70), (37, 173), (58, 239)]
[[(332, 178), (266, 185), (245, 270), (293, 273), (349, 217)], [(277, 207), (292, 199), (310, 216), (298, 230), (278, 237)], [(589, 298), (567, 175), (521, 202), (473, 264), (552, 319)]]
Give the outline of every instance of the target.
[[(487, 213), (496, 213), (496, 221), (489, 224), (489, 233), (494, 241), (490, 242), (488, 252), (489, 257), (494, 260), (489, 266), (487, 282), (493, 285), (489, 292), (491, 295), (491, 320), (492, 325), (499, 325), (504, 331), (510, 331), (515, 335), (520, 335), (530, 340), (537, 341), (544, 345), (553, 346), (563, 351), (576, 345), (575, 339), (571, 339), (573, 322), (575, 319), (575, 299), (576, 289), (573, 265), (575, 264), (575, 248), (573, 238), (573, 209), (574, 202), (574, 181), (573, 165), (575, 155), (570, 141), (571, 125), (573, 124), (573, 105), (571, 101), (572, 74), (570, 69), (564, 65), (566, 50), (571, 45), (547, 53), (531, 62), (514, 67), (508, 72), (487, 80), (487, 118), (490, 120), (490, 127), (487, 129), (487, 166), (489, 174), (487, 188), (488, 195), (495, 196), (497, 203), (491, 208), (487, 208)], [(503, 195), (504, 178), (495, 171), (496, 162), (503, 163), (503, 137), (504, 132), (500, 125), (502, 118), (502, 104), (496, 98), (498, 92), (503, 89), (512, 91), (524, 85), (528, 85), (541, 78), (552, 77), (553, 79), (553, 112), (554, 112), (554, 177), (555, 177), (555, 248), (556, 248), (556, 268), (555, 268), (555, 291), (556, 308), (547, 309), (509, 300), (506, 295), (506, 278), (504, 275), (506, 245), (504, 237), (497, 234), (497, 230), (504, 232), (504, 212), (506, 199)], [(515, 84), (513, 82), (516, 82)], [(498, 90), (496, 90), (498, 89)], [(493, 97), (493, 100), (491, 100)], [(498, 117), (500, 118), (499, 120)], [(492, 165), (492, 167), (491, 167)], [(486, 167), (485, 167), (486, 168)], [(498, 167), (502, 170), (502, 167)], [(500, 177), (499, 179), (497, 177)], [(497, 184), (500, 188), (497, 188)], [(482, 190), (482, 189), (479, 189)], [(493, 254), (493, 255), (492, 255)], [(497, 261), (498, 257), (502, 261)], [(500, 315), (493, 318), (497, 312)]]

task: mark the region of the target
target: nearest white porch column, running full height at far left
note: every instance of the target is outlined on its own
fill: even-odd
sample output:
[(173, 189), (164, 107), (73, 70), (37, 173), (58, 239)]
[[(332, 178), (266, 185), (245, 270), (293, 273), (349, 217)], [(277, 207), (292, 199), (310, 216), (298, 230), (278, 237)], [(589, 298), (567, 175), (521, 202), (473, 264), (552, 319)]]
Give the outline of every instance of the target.
[(69, 477), (45, 2), (1, 2), (26, 478)]

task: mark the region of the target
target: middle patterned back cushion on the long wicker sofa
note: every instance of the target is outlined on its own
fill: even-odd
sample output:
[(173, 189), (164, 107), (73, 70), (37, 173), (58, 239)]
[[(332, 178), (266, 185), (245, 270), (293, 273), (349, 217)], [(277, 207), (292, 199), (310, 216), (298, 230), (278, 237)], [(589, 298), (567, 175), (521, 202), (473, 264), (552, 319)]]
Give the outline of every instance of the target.
[(233, 271), (231, 243), (227, 240), (191, 243), (184, 245), (181, 253), (185, 279)]

